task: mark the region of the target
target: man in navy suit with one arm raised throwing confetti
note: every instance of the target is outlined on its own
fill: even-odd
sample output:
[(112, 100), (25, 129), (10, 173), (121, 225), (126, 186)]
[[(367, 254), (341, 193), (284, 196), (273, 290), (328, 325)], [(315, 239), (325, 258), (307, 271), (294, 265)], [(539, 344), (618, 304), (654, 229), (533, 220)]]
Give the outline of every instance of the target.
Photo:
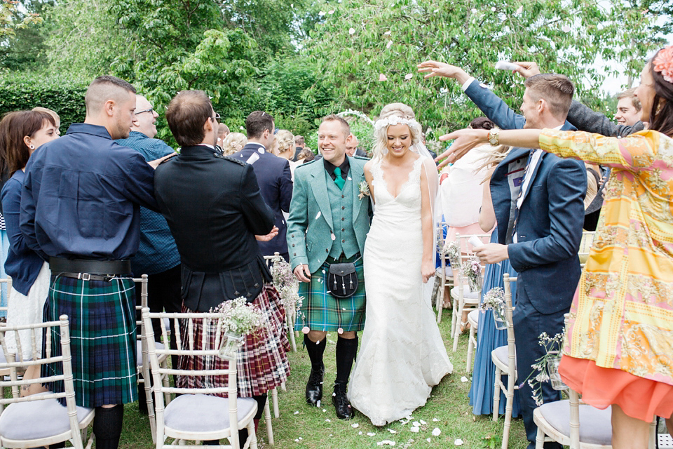
[[(521, 105), (516, 114), (485, 85), (459, 67), (426, 61), (420, 72), (447, 76), (463, 85), (463, 91), (502, 130), (522, 128), (572, 129), (566, 123), (575, 88), (563, 75), (540, 74), (526, 79)], [(486, 133), (491, 145), (500, 142), (501, 130), (473, 130)], [(443, 140), (443, 139), (442, 139)], [(486, 143), (486, 142), (483, 142)], [(454, 143), (455, 145), (455, 143)], [(453, 145), (440, 157), (453, 154)], [(444, 161), (440, 166), (448, 163)], [(556, 335), (564, 328), (564, 314), (570, 309), (580, 277), (578, 250), (584, 220), (587, 174), (583, 164), (561, 159), (541, 149), (514, 148), (501, 161), (491, 177), (491, 199), (498, 222), (498, 243), (487, 243), (475, 250), (483, 263), (509, 259), (519, 273), (514, 329), (517, 340), (517, 373), (520, 380), (531, 375), (532, 365), (546, 354), (538, 335)], [(557, 401), (559, 391), (542, 384), (544, 403)], [(537, 434), (533, 422), (536, 402), (527, 382), (519, 389), (522, 415), (529, 449)], [(545, 447), (559, 447), (546, 443)]]

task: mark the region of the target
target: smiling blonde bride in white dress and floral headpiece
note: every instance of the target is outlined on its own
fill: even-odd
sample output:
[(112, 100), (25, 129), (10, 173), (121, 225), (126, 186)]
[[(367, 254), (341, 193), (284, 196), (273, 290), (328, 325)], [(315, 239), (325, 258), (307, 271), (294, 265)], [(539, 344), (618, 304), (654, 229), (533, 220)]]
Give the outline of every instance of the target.
[(374, 133), (365, 165), (375, 204), (364, 253), (367, 319), (348, 398), (383, 426), (425, 405), (453, 367), (424, 285), (435, 274), (435, 163), (407, 105), (384, 107)]

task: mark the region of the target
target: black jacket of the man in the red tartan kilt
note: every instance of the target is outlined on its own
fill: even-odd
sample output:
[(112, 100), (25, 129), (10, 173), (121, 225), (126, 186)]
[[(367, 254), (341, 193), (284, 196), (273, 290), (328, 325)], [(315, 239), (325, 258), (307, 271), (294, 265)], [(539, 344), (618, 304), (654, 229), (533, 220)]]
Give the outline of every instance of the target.
[(271, 232), (273, 211), (252, 166), (197, 145), (182, 147), (154, 176), (182, 259), (184, 305), (208, 311), (225, 299), (254, 300), (271, 281), (254, 236)]

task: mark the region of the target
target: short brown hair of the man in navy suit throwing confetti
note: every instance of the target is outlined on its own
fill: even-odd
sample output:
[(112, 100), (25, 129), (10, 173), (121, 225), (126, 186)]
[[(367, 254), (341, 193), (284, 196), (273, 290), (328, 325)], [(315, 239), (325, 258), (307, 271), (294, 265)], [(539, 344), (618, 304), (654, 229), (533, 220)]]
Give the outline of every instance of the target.
[(524, 86), (528, 89), (531, 100), (543, 98), (553, 116), (559, 120), (566, 119), (575, 93), (575, 86), (567, 76), (541, 73), (526, 79)]

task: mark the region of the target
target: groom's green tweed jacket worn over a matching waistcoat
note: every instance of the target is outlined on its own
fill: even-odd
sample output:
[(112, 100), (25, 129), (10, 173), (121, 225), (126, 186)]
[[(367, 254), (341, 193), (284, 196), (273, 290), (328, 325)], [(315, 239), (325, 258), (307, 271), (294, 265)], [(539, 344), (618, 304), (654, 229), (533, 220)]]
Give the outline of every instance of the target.
[[(346, 157), (351, 166), (346, 182), (353, 183), (353, 230), (362, 254), (365, 251), (365, 238), (369, 232), (372, 214), (369, 196), (360, 199), (359, 186), (361, 182), (366, 182), (363, 168), (369, 159)], [(332, 249), (333, 230), (337, 226), (341, 227), (332, 220), (326, 182), (327, 175), (322, 159), (304, 163), (294, 170), (294, 189), (290, 217), (287, 219), (287, 250), (293, 270), (299, 264), (308, 264), (311, 273), (318, 271)]]

